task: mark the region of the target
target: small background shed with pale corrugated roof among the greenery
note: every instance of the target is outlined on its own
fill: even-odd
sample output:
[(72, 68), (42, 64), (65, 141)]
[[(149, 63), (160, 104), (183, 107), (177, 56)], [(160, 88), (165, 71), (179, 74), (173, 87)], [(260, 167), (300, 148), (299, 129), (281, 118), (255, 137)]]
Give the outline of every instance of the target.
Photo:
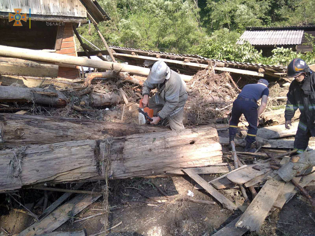
[(292, 48), (293, 51), (312, 51), (305, 35), (315, 37), (315, 25), (285, 26), (285, 27), (247, 27), (238, 40), (238, 44), (248, 41), (257, 50), (262, 50), (263, 56), (271, 56), (275, 48)]

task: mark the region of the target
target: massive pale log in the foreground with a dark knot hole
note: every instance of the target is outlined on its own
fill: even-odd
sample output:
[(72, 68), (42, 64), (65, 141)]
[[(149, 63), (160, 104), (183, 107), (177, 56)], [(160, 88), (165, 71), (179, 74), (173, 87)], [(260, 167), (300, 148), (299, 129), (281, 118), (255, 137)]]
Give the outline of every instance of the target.
[(221, 162), (218, 133), (209, 127), (32, 145), (0, 151), (0, 191), (43, 182), (159, 175)]

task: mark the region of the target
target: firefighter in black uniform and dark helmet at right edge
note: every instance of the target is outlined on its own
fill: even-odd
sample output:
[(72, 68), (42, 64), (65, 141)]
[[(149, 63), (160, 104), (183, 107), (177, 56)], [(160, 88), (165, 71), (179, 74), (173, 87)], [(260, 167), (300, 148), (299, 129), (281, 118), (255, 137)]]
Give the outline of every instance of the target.
[(287, 67), (287, 77), (293, 77), (287, 105), (285, 107), (285, 127), (290, 129), (295, 111), (300, 109), (300, 122), (295, 134), (294, 148), (302, 153), (308, 146), (310, 137), (315, 137), (315, 73), (305, 61), (296, 58)]

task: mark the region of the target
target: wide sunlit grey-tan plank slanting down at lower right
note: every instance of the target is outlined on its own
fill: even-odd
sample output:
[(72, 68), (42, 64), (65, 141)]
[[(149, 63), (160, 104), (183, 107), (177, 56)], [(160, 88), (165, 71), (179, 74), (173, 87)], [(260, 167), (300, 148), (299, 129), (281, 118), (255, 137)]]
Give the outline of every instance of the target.
[(279, 176), (267, 180), (235, 226), (258, 231), (284, 184), (285, 182)]

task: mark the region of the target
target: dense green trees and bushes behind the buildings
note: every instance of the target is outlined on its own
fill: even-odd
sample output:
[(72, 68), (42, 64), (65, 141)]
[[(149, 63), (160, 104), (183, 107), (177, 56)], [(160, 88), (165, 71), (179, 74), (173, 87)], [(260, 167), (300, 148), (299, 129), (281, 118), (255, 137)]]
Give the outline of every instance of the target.
[[(315, 52), (297, 55), (276, 48), (266, 58), (247, 42), (236, 44), (247, 26), (315, 24), (313, 1), (98, 0), (112, 18), (99, 27), (109, 45), (284, 65), (299, 56), (314, 63)], [(79, 31), (104, 48), (93, 27), (84, 25)], [(309, 42), (314, 44), (314, 38)]]

